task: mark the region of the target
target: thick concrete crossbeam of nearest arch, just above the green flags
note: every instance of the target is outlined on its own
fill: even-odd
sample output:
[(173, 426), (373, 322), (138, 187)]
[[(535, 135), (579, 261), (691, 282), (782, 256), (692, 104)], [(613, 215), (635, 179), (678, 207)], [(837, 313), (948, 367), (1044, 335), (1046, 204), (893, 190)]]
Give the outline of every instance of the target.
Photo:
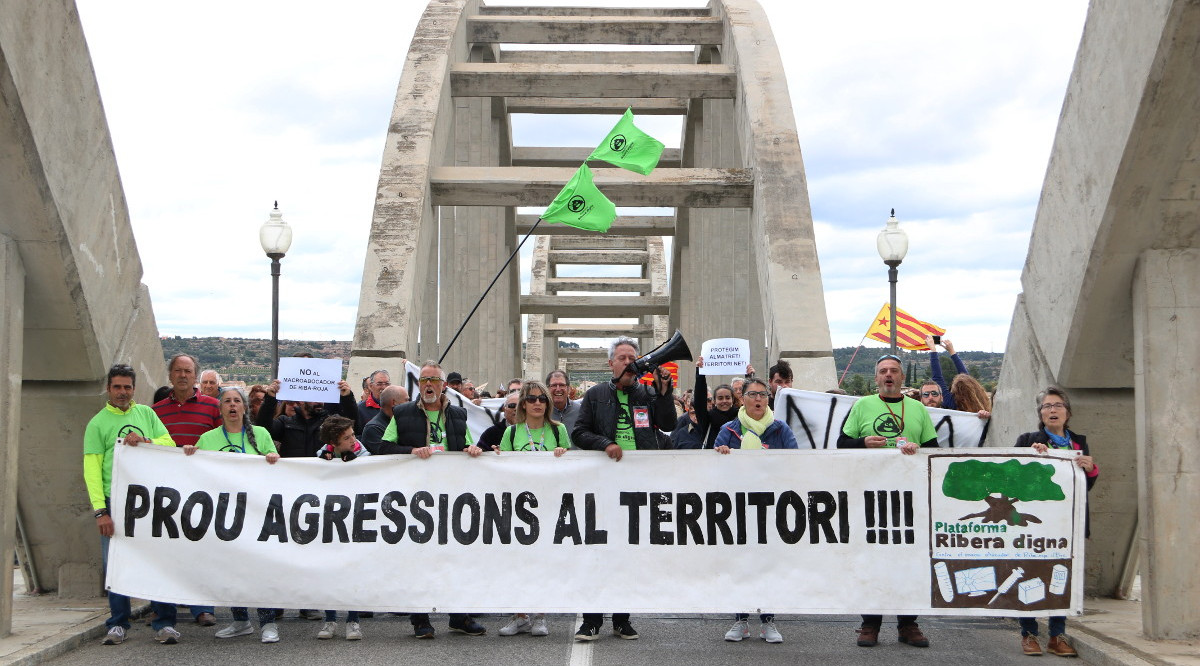
[(737, 76), (722, 65), (533, 65), (464, 62), (450, 67), (455, 97), (731, 98)]

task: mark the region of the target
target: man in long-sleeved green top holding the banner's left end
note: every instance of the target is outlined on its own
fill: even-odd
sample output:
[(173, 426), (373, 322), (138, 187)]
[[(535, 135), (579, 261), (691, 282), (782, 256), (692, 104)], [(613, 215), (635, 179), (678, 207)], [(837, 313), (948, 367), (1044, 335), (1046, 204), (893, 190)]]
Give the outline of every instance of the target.
[[(114, 532), (113, 517), (108, 512), (113, 492), (113, 449), (118, 442), (130, 446), (143, 443), (175, 445), (167, 432), (167, 426), (162, 425), (154, 409), (133, 402), (136, 382), (137, 373), (132, 367), (119, 364), (109, 368), (108, 402), (88, 421), (83, 434), (83, 480), (95, 511), (106, 570), (108, 542)], [(175, 630), (175, 605), (160, 601), (151, 601), (150, 605), (157, 614), (151, 623), (155, 640), (163, 644), (179, 642), (179, 631)], [(104, 623), (108, 634), (104, 636), (104, 644), (116, 646), (125, 641), (125, 632), (130, 629), (130, 598), (109, 592), (108, 610), (109, 618)]]

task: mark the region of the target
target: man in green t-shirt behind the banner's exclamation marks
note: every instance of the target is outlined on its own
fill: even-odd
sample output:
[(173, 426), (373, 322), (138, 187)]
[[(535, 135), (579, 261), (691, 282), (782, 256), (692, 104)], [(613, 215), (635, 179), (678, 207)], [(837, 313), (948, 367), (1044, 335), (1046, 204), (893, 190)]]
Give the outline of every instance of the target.
[[(875, 362), (875, 384), (880, 388), (878, 395), (860, 397), (850, 408), (850, 415), (838, 437), (838, 448), (895, 446), (898, 437), (907, 440), (900, 445), (900, 452), (905, 455), (916, 454), (918, 445), (937, 446), (937, 431), (934, 430), (934, 421), (925, 406), (900, 392), (904, 370), (898, 356), (880, 356)], [(917, 626), (917, 616), (898, 616), (896, 620), (901, 643), (929, 647), (929, 638)], [(859, 647), (877, 644), (882, 624), (883, 616), (863, 616), (863, 626), (858, 629)]]

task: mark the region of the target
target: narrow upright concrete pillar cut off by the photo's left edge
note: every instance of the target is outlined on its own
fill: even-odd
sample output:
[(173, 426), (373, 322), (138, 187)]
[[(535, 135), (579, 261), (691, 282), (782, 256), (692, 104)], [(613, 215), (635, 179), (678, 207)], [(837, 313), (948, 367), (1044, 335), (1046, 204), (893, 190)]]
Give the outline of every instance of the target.
[(0, 638), (12, 632), (12, 564), (17, 541), (17, 443), (25, 332), (25, 269), (17, 244), (0, 234)]

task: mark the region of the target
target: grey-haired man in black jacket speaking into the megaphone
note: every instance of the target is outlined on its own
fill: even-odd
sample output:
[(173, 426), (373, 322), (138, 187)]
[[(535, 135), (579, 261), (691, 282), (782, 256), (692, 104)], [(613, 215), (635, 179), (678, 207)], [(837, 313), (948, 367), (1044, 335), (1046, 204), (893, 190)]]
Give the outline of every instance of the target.
[[(619, 462), (625, 451), (659, 449), (658, 431), (674, 427), (674, 398), (671, 395), (671, 376), (654, 372), (653, 390), (638, 382), (634, 370), (637, 360), (637, 341), (618, 337), (608, 348), (608, 368), (612, 379), (596, 384), (583, 394), (580, 415), (571, 430), (571, 442), (580, 449), (604, 451)], [(594, 641), (600, 637), (604, 613), (583, 613), (583, 624), (575, 632), (576, 641)], [(613, 634), (635, 640), (637, 631), (629, 623), (629, 613), (612, 614)]]

